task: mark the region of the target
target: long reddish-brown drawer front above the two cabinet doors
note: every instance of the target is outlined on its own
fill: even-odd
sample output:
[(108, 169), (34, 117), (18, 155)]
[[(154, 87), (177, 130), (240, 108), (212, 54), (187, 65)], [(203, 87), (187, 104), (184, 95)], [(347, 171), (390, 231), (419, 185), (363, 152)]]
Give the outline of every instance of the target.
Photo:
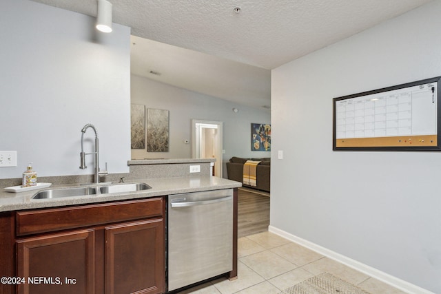
[(17, 212), (17, 236), (163, 216), (163, 198)]

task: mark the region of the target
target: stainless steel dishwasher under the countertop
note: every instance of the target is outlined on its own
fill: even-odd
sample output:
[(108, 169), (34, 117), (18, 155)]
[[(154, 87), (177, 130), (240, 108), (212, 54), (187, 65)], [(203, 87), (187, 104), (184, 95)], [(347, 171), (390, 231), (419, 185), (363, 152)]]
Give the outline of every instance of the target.
[(233, 189), (168, 196), (168, 291), (233, 269)]

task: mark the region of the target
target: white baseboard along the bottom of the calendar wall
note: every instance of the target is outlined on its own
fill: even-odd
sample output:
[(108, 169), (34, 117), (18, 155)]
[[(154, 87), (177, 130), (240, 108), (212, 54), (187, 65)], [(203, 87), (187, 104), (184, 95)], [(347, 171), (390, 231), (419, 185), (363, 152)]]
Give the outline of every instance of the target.
[(378, 269), (374, 269), (371, 266), (362, 264), (361, 262), (348, 258), (345, 255), (341, 255), (340, 253), (336, 253), (334, 251), (326, 249), (325, 247), (322, 247), (313, 242), (309, 242), (308, 240), (297, 237), (296, 235), (292, 235), (291, 233), (287, 233), (276, 227), (269, 226), (268, 231), (270, 231), (271, 233), (275, 233), (276, 235), (280, 235), (280, 237), (290, 240), (291, 242), (305, 246), (308, 249), (311, 249), (312, 251), (316, 251), (317, 253), (320, 253), (321, 255), (325, 255), (327, 258), (331, 258), (331, 260), (336, 260), (337, 262), (340, 262), (341, 264), (345, 264), (351, 267), (352, 269), (365, 273), (366, 275), (369, 275), (373, 278), (376, 278), (377, 280), (380, 280), (381, 282), (384, 282), (395, 288), (398, 288), (401, 291), (411, 294), (434, 294), (433, 292), (428, 291), (424, 288), (421, 288), (419, 286), (401, 280), (398, 277), (389, 275), (388, 273), (379, 271)]

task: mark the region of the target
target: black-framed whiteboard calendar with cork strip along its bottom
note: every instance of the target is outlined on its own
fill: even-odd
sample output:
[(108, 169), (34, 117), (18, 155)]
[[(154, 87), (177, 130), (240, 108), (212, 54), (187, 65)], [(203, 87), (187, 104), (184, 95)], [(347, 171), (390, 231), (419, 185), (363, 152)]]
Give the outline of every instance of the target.
[(333, 99), (334, 150), (438, 151), (441, 77)]

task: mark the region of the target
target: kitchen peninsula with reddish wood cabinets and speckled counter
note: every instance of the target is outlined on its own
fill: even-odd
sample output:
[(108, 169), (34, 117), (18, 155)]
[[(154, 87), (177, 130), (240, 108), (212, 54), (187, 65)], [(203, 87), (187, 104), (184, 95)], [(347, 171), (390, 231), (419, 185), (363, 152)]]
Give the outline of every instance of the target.
[[(103, 183), (151, 187), (140, 191), (32, 199), (38, 190), (1, 189), (0, 276), (10, 280), (0, 285), (0, 293), (16, 293), (16, 287), (18, 293), (165, 293), (168, 196), (228, 189), (234, 191), (232, 271), (223, 274), (233, 279), (240, 183), (210, 176), (211, 162), (130, 160), (129, 174), (116, 175), (115, 184)], [(190, 165), (200, 165), (200, 172), (190, 173)], [(121, 178), (125, 183), (117, 184)], [(44, 190), (79, 186), (57, 183)], [(46, 280), (32, 284), (29, 277)]]

